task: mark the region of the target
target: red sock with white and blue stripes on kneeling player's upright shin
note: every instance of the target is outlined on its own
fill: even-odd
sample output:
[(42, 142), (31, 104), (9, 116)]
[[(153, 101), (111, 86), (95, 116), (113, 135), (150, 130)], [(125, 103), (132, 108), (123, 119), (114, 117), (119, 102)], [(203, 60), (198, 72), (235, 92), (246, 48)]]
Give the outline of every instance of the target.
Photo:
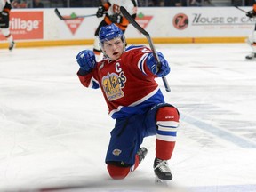
[(180, 115), (174, 107), (159, 108), (156, 114), (156, 157), (169, 160), (175, 147)]

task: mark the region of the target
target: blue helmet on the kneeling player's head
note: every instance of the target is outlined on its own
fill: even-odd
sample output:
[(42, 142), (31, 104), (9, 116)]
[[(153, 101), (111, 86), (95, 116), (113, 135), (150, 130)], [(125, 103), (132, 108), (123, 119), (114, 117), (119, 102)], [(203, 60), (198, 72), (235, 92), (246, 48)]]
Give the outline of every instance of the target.
[(99, 39), (101, 46), (105, 41), (110, 41), (111, 39), (117, 37), (120, 37), (124, 44), (126, 44), (123, 31), (115, 24), (112, 23), (111, 25), (103, 26), (100, 28)]

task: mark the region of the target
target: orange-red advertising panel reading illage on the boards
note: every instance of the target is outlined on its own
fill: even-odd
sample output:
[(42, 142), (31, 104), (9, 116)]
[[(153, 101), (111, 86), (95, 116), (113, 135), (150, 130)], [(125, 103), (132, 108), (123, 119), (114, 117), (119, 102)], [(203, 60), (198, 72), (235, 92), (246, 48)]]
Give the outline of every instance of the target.
[[(43, 39), (43, 12), (11, 12), (10, 30), (14, 39)], [(4, 36), (0, 36), (4, 40)]]

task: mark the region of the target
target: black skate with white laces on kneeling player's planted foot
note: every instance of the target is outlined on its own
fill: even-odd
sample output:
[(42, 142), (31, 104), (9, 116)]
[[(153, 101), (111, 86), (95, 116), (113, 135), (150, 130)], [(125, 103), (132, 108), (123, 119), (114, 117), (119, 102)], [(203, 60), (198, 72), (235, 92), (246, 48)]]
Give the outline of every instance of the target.
[(167, 180), (172, 180), (172, 172), (166, 160), (155, 158), (154, 172), (156, 175), (156, 183), (166, 183)]

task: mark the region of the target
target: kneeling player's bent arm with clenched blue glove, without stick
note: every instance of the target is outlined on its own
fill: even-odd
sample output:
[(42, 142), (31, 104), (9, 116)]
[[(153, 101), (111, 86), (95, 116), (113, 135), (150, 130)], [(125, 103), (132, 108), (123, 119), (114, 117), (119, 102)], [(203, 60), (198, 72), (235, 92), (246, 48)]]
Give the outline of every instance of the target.
[(91, 50), (83, 50), (76, 55), (76, 62), (79, 65), (77, 76), (81, 84), (93, 89), (99, 88), (98, 81), (93, 77), (93, 69), (96, 68), (97, 62), (95, 54)]

